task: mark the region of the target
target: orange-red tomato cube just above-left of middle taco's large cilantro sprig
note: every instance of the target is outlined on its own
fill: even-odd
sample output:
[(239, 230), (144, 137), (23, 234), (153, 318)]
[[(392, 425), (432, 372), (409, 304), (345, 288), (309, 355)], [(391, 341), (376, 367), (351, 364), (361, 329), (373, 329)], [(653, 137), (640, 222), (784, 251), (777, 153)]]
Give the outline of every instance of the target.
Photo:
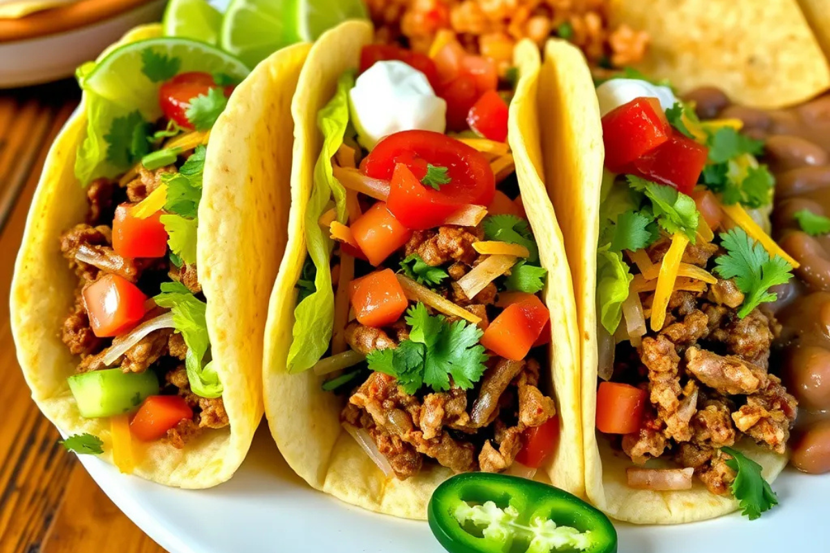
[(388, 326), (407, 310), (407, 297), (392, 269), (367, 274), (351, 294), (354, 316), (367, 327)]

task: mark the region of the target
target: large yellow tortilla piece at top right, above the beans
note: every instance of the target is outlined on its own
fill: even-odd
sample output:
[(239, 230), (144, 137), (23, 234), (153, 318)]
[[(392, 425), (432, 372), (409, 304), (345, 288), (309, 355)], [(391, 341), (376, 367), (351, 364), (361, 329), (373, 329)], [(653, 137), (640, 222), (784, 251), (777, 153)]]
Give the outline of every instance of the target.
[(612, 0), (609, 17), (648, 33), (637, 69), (677, 90), (714, 85), (740, 104), (782, 108), (830, 87), (796, 0)]

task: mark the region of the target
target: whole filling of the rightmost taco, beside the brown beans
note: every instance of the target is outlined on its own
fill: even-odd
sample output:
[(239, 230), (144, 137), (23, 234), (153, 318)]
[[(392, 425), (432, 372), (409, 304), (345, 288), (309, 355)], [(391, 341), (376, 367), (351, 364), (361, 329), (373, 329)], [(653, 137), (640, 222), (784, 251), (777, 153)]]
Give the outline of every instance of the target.
[(688, 489), (694, 475), (730, 493), (754, 464), (736, 444), (784, 454), (797, 412), (769, 371), (780, 331), (770, 289), (798, 264), (768, 235), (764, 143), (740, 120), (699, 120), (667, 85), (613, 79), (597, 92), (597, 428), (637, 465), (670, 462), (628, 468), (629, 487)]

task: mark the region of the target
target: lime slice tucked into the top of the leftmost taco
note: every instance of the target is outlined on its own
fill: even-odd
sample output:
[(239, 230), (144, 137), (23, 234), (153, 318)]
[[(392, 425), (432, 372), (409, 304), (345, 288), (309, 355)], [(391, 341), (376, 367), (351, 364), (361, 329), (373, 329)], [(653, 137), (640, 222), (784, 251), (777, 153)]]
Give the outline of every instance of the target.
[[(186, 71), (204, 71), (224, 73), (235, 80), (243, 80), (248, 74), (248, 68), (242, 61), (214, 46), (168, 36), (131, 42), (116, 48), (94, 68), (82, 72), (81, 88), (122, 109), (138, 109), (144, 119), (154, 121), (161, 115), (159, 88), (162, 81), (169, 77), (159, 79), (159, 71), (145, 65), (149, 56), (162, 61), (166, 70), (172, 68), (169, 77)], [(164, 70), (161, 74), (164, 75)], [(156, 80), (148, 75), (154, 75)]]

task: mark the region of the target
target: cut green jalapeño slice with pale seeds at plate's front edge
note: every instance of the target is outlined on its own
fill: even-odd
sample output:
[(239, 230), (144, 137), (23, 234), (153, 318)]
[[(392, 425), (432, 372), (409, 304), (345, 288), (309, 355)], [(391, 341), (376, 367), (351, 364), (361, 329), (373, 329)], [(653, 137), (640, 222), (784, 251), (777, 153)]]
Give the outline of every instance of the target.
[(432, 494), (428, 517), (450, 553), (617, 552), (617, 531), (602, 512), (526, 478), (459, 474)]

